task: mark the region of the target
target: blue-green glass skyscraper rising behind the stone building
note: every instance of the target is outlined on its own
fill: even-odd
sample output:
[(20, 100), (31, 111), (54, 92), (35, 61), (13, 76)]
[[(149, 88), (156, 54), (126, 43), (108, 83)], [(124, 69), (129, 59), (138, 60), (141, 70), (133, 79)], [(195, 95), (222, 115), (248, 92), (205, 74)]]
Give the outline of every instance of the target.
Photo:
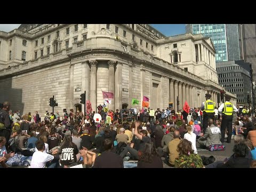
[(237, 24), (187, 24), (186, 33), (211, 37), (216, 62), (240, 60)]

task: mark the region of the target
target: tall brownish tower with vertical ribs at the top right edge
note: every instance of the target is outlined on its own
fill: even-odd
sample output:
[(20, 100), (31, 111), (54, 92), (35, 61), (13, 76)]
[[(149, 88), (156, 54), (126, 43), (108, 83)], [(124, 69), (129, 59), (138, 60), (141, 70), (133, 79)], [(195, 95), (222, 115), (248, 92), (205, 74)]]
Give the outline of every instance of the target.
[(253, 81), (256, 80), (256, 25), (238, 24), (241, 59), (252, 64)]

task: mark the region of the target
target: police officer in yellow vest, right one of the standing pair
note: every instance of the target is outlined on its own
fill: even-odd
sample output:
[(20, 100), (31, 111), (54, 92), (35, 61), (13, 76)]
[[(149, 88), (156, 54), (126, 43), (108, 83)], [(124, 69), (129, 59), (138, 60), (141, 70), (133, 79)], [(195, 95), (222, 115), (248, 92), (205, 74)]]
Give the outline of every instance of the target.
[[(228, 128), (228, 138), (227, 142), (230, 143), (232, 135), (232, 122), (233, 122), (233, 111), (237, 112), (237, 108), (231, 103), (230, 97), (227, 95), (226, 102), (222, 103), (218, 111), (221, 114), (221, 142), (224, 142), (225, 131)], [(223, 111), (222, 111), (223, 110)]]

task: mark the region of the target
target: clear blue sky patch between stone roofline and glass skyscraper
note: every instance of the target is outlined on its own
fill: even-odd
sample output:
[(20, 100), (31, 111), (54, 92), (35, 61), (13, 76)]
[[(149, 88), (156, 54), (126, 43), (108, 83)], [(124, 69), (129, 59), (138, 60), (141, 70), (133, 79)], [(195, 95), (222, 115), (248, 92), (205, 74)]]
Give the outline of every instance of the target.
[(185, 24), (150, 24), (166, 36), (185, 34)]

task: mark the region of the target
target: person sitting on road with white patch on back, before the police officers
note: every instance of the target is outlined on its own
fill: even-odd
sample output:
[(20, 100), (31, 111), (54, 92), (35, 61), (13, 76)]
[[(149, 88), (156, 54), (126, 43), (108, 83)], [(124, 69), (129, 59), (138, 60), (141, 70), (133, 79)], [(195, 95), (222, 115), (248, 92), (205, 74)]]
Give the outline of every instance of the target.
[(205, 134), (197, 141), (199, 145), (209, 147), (211, 145), (221, 145), (221, 132), (219, 127), (213, 124), (213, 119), (208, 119), (209, 127), (206, 128)]

